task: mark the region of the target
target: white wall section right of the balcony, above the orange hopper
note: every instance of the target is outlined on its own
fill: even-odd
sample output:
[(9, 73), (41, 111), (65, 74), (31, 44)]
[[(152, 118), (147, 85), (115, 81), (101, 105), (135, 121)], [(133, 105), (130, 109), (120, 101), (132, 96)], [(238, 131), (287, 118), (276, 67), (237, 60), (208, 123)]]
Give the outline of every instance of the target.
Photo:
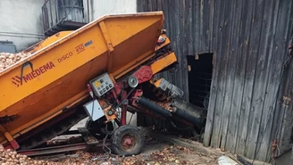
[(90, 20), (105, 14), (137, 12), (137, 0), (90, 0)]

